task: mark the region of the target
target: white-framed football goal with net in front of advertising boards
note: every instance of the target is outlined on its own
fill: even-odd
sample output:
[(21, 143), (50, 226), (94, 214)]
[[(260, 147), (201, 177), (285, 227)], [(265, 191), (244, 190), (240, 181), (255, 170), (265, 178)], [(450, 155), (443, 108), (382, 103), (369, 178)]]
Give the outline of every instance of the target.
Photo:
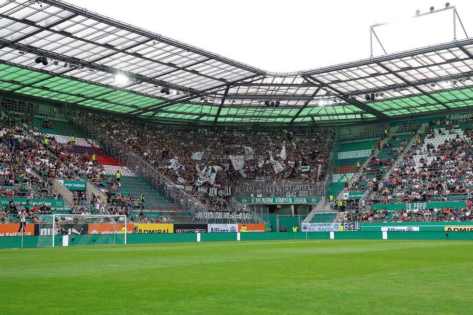
[(38, 247), (126, 244), (132, 230), (126, 216), (54, 214), (40, 223)]

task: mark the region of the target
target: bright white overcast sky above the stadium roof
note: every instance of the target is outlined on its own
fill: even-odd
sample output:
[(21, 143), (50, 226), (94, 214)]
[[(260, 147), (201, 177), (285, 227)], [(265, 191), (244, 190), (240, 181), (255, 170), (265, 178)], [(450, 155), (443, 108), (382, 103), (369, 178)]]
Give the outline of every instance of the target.
[[(80, 8), (246, 63), (268, 72), (297, 72), (370, 57), (369, 27), (386, 52), (453, 41), (447, 0), (67, 0)], [(473, 37), (473, 1), (452, 0)], [(457, 19), (457, 40), (466, 38)], [(384, 52), (373, 36), (373, 55)]]

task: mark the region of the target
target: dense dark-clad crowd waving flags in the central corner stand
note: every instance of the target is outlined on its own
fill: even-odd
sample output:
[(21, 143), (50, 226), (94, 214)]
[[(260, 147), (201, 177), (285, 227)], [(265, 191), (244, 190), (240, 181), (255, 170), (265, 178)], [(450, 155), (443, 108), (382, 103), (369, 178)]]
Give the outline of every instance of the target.
[[(215, 179), (220, 186), (228, 186), (229, 179), (234, 181), (243, 176), (284, 178), (292, 174), (299, 180), (323, 180), (334, 136), (332, 130), (315, 128), (169, 127), (84, 112), (77, 119), (91, 122), (104, 143), (115, 143), (118, 154), (136, 153), (174, 182), (181, 178), (180, 182), (184, 180), (187, 184), (196, 179), (196, 168), (215, 164), (229, 166), (227, 172), (220, 172)], [(285, 160), (279, 156), (284, 144)], [(245, 147), (252, 148), (253, 159), (245, 159), (243, 171), (238, 172), (228, 156), (245, 156)], [(194, 152), (204, 152), (202, 159), (192, 159)], [(177, 169), (168, 168), (175, 157)], [(265, 162), (271, 157), (281, 163), (283, 172), (275, 173), (272, 163)], [(310, 171), (302, 172), (301, 166), (309, 166)]]

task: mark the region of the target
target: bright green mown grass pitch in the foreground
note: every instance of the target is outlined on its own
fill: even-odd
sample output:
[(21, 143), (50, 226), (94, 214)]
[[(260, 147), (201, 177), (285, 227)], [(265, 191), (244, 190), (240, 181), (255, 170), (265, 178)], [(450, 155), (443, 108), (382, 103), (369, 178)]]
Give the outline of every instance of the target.
[(473, 242), (0, 250), (1, 314), (473, 314)]

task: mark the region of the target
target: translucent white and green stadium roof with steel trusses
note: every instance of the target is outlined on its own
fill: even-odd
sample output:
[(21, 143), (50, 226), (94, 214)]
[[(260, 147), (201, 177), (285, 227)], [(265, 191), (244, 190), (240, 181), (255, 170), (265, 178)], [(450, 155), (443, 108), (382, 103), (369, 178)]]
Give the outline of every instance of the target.
[(472, 74), (473, 39), (270, 73), (65, 2), (0, 0), (0, 90), (162, 123), (323, 125), (470, 111)]

